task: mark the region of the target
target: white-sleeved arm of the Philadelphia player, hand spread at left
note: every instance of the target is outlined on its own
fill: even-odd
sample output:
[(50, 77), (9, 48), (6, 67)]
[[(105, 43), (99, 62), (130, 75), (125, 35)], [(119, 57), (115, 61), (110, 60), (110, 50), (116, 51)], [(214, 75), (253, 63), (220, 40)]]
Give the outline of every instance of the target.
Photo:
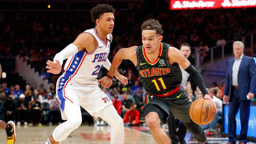
[(61, 66), (63, 60), (73, 56), (77, 52), (85, 49), (90, 43), (93, 42), (93, 37), (88, 33), (80, 34), (76, 40), (66, 46), (62, 51), (57, 53), (53, 58), (53, 61), (47, 60), (46, 68), (48, 73), (59, 74), (61, 72)]

